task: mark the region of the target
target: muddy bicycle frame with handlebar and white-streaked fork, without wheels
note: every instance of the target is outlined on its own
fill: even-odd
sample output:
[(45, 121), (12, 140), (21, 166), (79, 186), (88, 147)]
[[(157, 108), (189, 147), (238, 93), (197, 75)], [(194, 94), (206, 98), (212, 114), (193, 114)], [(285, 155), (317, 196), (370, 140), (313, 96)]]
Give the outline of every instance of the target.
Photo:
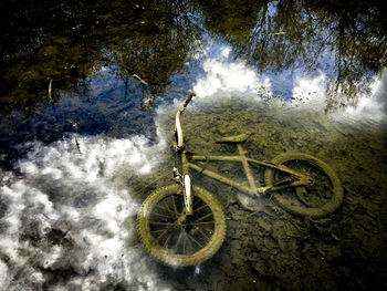
[[(186, 110), (186, 106), (190, 102), (190, 100), (195, 96), (195, 93), (189, 91), (187, 98), (185, 102), (180, 105), (177, 114), (176, 114), (176, 128), (175, 128), (175, 134), (176, 134), (176, 148), (179, 154), (181, 154), (181, 165), (182, 165), (182, 175), (178, 173), (176, 169), (175, 177), (177, 183), (179, 183), (182, 186), (182, 194), (185, 197), (185, 205), (187, 209), (187, 215), (192, 214), (192, 204), (191, 204), (191, 185), (190, 185), (190, 178), (189, 178), (189, 169), (194, 169), (196, 172), (199, 172), (206, 176), (209, 176), (216, 180), (219, 180), (223, 184), (227, 184), (229, 186), (232, 186), (245, 194), (260, 197), (261, 195), (265, 195), (270, 191), (275, 191), (289, 187), (300, 187), (300, 186), (306, 186), (312, 184), (312, 179), (304, 174), (301, 174), (299, 172), (292, 170), (283, 165), (278, 166), (274, 164), (252, 159), (245, 156), (245, 150), (242, 147), (242, 143), (234, 142), (239, 152), (239, 155), (234, 156), (201, 156), (201, 155), (192, 155), (186, 150), (184, 147), (184, 138), (182, 138), (182, 128), (181, 128), (181, 113)], [(195, 160), (201, 160), (201, 162), (236, 162), (236, 163), (242, 163), (244, 175), (248, 179), (249, 186), (242, 185), (236, 180), (229, 179), (218, 173), (215, 173), (209, 169), (205, 169), (191, 162)], [(251, 173), (250, 168), (250, 163), (257, 164), (259, 166), (263, 166), (266, 168), (273, 168), (279, 172), (287, 173), (291, 176), (289, 178), (285, 178), (283, 180), (275, 181), (275, 184), (272, 185), (255, 185), (255, 180), (253, 178), (253, 175)], [(257, 181), (259, 183), (259, 181)]]

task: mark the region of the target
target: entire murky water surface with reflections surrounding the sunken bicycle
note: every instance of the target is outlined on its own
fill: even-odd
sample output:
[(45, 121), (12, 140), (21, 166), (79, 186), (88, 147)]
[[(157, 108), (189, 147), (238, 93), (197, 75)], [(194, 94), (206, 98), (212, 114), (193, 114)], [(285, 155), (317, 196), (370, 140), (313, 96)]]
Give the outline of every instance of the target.
[[(8, 2), (0, 290), (387, 288), (378, 2)], [(233, 154), (215, 142), (249, 131), (255, 159), (316, 156), (341, 179), (339, 209), (302, 218), (265, 197), (250, 211), (238, 190), (192, 173), (224, 209), (224, 242), (191, 268), (153, 259), (135, 220), (153, 190), (174, 183), (171, 132), (188, 89), (189, 150)], [(243, 178), (231, 163), (203, 167)]]

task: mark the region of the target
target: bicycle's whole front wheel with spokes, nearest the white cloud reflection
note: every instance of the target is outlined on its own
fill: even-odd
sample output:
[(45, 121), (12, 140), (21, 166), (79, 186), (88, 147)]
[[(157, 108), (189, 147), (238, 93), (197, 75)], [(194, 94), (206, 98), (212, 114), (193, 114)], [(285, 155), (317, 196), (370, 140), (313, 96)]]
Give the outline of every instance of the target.
[(194, 214), (185, 215), (179, 186), (151, 193), (137, 216), (137, 232), (147, 251), (171, 267), (188, 267), (211, 258), (226, 236), (219, 201), (207, 190), (192, 187)]

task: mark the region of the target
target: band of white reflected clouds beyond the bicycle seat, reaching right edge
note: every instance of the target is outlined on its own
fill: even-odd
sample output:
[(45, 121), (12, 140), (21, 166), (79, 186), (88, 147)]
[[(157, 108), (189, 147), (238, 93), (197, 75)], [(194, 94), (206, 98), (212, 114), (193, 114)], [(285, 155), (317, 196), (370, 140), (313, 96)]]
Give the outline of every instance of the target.
[[(197, 100), (207, 98), (213, 102), (213, 97), (243, 95), (243, 98), (253, 97), (257, 101), (270, 102), (271, 105), (286, 106), (295, 111), (321, 113), (326, 108), (328, 100), (326, 87), (332, 80), (323, 71), (317, 71), (314, 75), (295, 71), (292, 75), (293, 82), (278, 84), (278, 80), (289, 79), (287, 71), (268, 76), (263, 73), (259, 74), (257, 70), (241, 60), (231, 60), (230, 46), (215, 46), (208, 51), (210, 53), (202, 60), (203, 74), (197, 77), (194, 85)], [(280, 90), (289, 91), (290, 96), (275, 95), (273, 84), (275, 84), (275, 90), (282, 85)], [(381, 122), (386, 118), (386, 87), (387, 73), (385, 71), (381, 79), (374, 77), (369, 94), (358, 93), (357, 104), (353, 98), (352, 103), (344, 104), (343, 107), (328, 112), (327, 115), (334, 119), (347, 119), (348, 122)]]

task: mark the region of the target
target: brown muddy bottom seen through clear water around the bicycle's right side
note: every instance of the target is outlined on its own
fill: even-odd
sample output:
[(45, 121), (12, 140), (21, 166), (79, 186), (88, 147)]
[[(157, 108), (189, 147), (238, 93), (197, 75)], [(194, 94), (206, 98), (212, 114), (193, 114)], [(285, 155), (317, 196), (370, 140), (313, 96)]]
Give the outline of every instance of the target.
[[(172, 128), (172, 113), (166, 115), (165, 128)], [(194, 152), (236, 153), (215, 141), (250, 131), (244, 147), (257, 159), (270, 160), (286, 150), (316, 156), (336, 172), (345, 197), (337, 211), (320, 219), (295, 217), (270, 198), (249, 211), (238, 202), (236, 189), (194, 175), (196, 184), (221, 200), (228, 231), (219, 252), (201, 266), (172, 270), (159, 264), (160, 276), (176, 290), (387, 288), (386, 125), (239, 100), (189, 108), (182, 123)], [(215, 166), (240, 172), (231, 168)], [(171, 181), (163, 178), (150, 188)]]

